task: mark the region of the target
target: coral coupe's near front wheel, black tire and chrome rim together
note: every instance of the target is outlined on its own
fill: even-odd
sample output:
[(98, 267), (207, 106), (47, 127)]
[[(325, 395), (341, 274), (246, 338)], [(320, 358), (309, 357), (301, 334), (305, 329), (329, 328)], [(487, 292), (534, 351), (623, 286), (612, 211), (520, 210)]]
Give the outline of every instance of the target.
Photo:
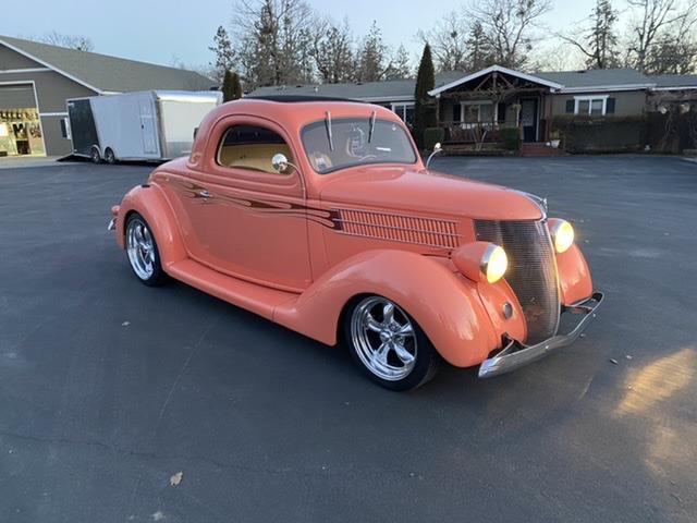
[(440, 356), (418, 324), (382, 296), (354, 301), (344, 316), (344, 341), (368, 377), (391, 390), (430, 380)]

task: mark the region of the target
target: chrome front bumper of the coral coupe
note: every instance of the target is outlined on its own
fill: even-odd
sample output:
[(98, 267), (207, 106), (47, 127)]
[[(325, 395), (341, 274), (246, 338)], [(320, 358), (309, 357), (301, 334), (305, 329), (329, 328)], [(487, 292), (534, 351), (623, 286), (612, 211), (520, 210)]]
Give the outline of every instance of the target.
[(588, 300), (564, 307), (562, 313), (584, 315), (580, 321), (578, 321), (578, 325), (566, 335), (557, 335), (541, 343), (529, 346), (515, 340), (509, 340), (509, 343), (501, 352), (481, 363), (479, 377), (491, 378), (492, 376), (510, 373), (511, 370), (515, 370), (516, 368), (539, 360), (554, 349), (570, 345), (578, 339), (590, 320), (596, 317), (596, 309), (602, 303), (602, 292), (594, 292)]

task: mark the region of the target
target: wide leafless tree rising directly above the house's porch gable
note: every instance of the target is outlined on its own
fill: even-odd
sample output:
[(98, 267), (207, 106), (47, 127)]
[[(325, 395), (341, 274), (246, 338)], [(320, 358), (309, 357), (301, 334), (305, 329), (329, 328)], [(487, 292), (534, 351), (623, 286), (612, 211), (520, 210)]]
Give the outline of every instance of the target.
[(525, 68), (536, 39), (533, 29), (550, 9), (549, 0), (480, 0), (472, 3), (467, 13), (481, 25), (496, 63)]

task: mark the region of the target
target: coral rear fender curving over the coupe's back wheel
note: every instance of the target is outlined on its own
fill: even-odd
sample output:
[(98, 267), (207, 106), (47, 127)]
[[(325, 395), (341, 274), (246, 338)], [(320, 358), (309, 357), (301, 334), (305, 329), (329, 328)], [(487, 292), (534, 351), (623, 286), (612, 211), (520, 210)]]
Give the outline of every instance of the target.
[(126, 193), (117, 215), (117, 242), (124, 248), (126, 219), (131, 212), (137, 212), (150, 226), (160, 254), (160, 263), (167, 267), (186, 259), (184, 242), (174, 218), (174, 212), (162, 191), (154, 184), (138, 185)]

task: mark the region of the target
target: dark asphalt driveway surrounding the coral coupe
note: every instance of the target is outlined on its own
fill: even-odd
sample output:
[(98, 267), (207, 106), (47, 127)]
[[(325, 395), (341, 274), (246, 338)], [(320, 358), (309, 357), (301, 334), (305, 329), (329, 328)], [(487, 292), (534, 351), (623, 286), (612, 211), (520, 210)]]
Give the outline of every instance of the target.
[(0, 171), (0, 521), (697, 521), (697, 165), (435, 167), (574, 221), (608, 295), (585, 338), (389, 392), (341, 349), (137, 282), (106, 224), (148, 168)]

